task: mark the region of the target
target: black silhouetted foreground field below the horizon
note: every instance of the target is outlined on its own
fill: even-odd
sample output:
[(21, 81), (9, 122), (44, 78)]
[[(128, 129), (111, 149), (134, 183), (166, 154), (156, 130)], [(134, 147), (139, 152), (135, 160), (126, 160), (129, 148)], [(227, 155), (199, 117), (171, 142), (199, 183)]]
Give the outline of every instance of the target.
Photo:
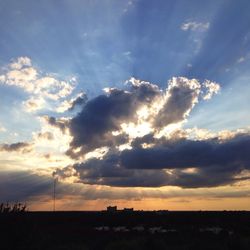
[(0, 249), (250, 249), (250, 212), (0, 214)]

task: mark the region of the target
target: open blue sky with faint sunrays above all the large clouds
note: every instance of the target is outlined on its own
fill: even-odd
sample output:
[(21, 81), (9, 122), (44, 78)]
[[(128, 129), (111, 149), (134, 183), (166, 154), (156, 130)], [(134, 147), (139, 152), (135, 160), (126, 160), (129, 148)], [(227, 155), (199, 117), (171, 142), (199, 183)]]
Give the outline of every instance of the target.
[[(131, 76), (161, 87), (172, 76), (209, 79), (222, 86), (216, 115), (223, 117), (226, 108), (244, 111), (244, 117), (249, 115), (249, 88), (243, 86), (249, 77), (249, 11), (248, 1), (228, 0), (0, 1), (0, 62), (28, 56), (46, 72), (77, 76), (78, 88), (90, 96), (106, 86), (120, 87)], [(209, 28), (181, 29), (188, 22)], [(194, 110), (196, 122), (203, 119), (200, 113)]]

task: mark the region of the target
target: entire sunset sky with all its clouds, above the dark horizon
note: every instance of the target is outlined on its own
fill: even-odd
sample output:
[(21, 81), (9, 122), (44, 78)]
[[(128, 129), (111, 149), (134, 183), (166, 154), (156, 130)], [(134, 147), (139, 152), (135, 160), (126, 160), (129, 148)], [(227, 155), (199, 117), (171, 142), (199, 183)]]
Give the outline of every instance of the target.
[(248, 0), (0, 0), (0, 202), (249, 210)]

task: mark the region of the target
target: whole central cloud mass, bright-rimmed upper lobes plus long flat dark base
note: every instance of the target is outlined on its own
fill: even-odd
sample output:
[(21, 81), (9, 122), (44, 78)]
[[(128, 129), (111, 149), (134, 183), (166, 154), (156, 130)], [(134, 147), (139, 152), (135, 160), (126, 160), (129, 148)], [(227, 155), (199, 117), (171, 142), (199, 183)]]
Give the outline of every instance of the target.
[[(201, 134), (178, 125), (201, 98), (218, 93), (219, 84), (175, 77), (163, 91), (134, 78), (130, 83), (126, 90), (105, 89), (105, 95), (87, 101), (65, 124), (72, 136), (67, 154), (84, 161), (69, 165), (66, 174), (60, 169), (58, 175), (74, 176), (85, 184), (183, 188), (220, 186), (246, 178), (238, 176), (249, 170), (249, 133)], [(59, 126), (57, 122), (50, 121)], [(134, 129), (147, 124), (150, 132), (134, 137), (129, 124)], [(199, 136), (190, 139), (193, 132)], [(94, 154), (105, 147), (103, 153)], [(93, 156), (84, 158), (89, 153)]]

